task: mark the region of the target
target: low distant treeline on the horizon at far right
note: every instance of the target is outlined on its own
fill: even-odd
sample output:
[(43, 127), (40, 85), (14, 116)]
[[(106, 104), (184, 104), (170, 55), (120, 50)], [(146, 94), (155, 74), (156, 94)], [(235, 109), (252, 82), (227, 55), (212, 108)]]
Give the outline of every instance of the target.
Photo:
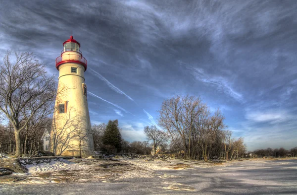
[(297, 147), (286, 150), (283, 147), (280, 148), (267, 148), (267, 149), (257, 149), (253, 152), (249, 152), (253, 157), (296, 157), (297, 156)]

